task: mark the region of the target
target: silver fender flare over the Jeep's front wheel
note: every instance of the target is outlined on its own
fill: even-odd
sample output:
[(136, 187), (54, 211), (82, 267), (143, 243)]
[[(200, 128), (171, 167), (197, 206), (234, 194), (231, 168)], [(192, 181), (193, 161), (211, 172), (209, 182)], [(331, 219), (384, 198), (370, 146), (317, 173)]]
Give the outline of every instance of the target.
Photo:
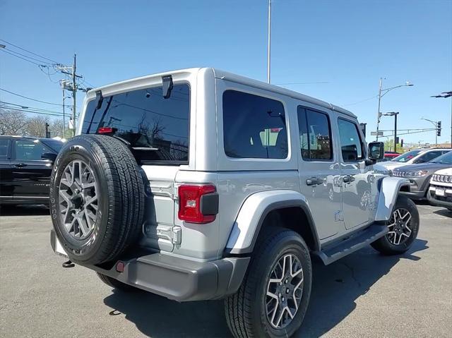
[(410, 181), (393, 176), (381, 179), (375, 215), (376, 221), (387, 221), (391, 218), (391, 212), (396, 204), (398, 193), (403, 186), (408, 186), (408, 190), (410, 190)]

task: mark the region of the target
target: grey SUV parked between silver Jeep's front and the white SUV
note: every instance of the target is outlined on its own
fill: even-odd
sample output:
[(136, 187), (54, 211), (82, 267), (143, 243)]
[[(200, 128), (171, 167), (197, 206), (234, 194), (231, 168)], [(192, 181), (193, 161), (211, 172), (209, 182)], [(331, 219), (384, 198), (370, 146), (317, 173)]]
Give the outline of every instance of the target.
[(421, 164), (408, 164), (393, 170), (393, 176), (410, 180), (410, 191), (403, 191), (403, 195), (412, 200), (427, 198), (429, 183), (436, 170), (452, 167), (452, 151)]

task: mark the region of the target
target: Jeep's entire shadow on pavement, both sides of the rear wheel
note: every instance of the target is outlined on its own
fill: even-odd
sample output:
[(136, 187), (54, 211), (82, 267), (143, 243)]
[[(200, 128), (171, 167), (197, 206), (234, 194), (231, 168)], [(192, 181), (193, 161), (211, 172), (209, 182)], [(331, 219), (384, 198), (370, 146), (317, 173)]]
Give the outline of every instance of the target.
[[(331, 330), (399, 260), (419, 260), (414, 253), (427, 248), (427, 241), (417, 239), (400, 256), (382, 256), (369, 247), (328, 266), (315, 262), (309, 309), (295, 337), (319, 337)], [(124, 314), (149, 337), (231, 337), (222, 301), (177, 303), (144, 291), (113, 291), (104, 303), (114, 309), (111, 315)]]

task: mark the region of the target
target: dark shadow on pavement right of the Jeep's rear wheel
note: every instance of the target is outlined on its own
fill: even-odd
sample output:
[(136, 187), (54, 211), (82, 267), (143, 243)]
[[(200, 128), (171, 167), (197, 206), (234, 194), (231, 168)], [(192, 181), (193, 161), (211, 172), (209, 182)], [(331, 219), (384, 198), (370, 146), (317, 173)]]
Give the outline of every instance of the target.
[(309, 308), (294, 337), (326, 334), (355, 310), (356, 299), (367, 294), (399, 260), (420, 260), (415, 253), (427, 248), (427, 241), (416, 239), (403, 255), (384, 256), (367, 247), (328, 266), (314, 263)]

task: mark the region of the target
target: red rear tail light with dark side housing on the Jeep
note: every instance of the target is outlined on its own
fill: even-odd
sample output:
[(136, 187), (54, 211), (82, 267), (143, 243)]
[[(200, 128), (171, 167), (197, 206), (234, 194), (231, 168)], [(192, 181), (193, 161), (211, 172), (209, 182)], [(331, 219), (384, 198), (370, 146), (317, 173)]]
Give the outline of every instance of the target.
[(205, 224), (213, 222), (217, 214), (218, 193), (215, 186), (179, 186), (179, 219)]

